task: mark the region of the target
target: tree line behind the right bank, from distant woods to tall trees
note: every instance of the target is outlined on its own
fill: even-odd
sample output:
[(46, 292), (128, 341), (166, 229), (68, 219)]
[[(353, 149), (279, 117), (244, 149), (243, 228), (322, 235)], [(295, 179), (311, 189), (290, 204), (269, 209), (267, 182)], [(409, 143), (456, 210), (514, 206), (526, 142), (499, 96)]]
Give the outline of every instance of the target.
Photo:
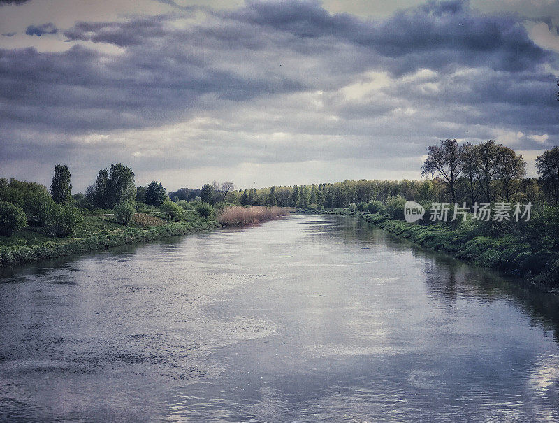
[(525, 178), (526, 162), (521, 155), (493, 140), (477, 145), (458, 145), (443, 140), (427, 148), (422, 166), (424, 180), (344, 180), (343, 182), (244, 189), (231, 192), (231, 203), (250, 206), (326, 208), (402, 196), (419, 203), (525, 201), (559, 203), (559, 147), (546, 150), (536, 159), (539, 178)]

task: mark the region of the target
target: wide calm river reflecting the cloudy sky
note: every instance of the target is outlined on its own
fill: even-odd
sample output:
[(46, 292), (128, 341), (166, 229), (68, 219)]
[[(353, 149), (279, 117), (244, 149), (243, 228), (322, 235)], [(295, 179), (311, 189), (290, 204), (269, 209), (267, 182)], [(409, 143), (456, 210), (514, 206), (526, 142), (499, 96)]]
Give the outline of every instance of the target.
[(340, 216), (0, 275), (2, 421), (559, 420), (559, 301)]

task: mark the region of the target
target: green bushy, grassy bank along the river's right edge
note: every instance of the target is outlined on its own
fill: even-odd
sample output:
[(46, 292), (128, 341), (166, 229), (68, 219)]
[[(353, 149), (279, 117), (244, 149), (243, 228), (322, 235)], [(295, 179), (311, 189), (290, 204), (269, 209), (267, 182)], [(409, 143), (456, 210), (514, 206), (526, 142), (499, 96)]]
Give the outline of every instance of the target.
[(559, 294), (559, 252), (521, 241), (511, 234), (483, 234), (479, 226), (472, 222), (458, 222), (453, 227), (441, 222), (407, 223), (392, 215), (359, 211), (351, 207), (306, 208), (298, 212), (353, 215), (424, 248), (446, 252), (456, 259), (496, 269), (504, 275), (516, 276), (518, 282)]

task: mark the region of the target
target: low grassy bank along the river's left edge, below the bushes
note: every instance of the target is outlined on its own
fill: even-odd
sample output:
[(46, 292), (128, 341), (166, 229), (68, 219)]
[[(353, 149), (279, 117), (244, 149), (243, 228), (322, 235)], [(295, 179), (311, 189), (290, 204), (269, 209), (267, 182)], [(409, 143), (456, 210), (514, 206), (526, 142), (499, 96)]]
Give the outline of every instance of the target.
[(12, 236), (0, 236), (0, 267), (69, 254), (103, 250), (118, 245), (145, 243), (168, 236), (191, 234), (219, 227), (215, 220), (190, 213), (180, 222), (166, 222), (157, 217), (138, 215), (129, 226), (114, 218), (85, 217), (71, 236), (56, 238), (37, 227), (25, 227)]

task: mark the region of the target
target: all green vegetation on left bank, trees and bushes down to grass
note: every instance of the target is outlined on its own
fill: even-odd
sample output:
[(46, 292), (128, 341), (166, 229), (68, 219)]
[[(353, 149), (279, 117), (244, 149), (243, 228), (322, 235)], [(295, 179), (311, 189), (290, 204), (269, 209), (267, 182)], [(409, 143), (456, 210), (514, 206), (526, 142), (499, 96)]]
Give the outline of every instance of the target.
[[(136, 189), (133, 171), (123, 164), (99, 171), (85, 195), (71, 196), (70, 182), (62, 165), (55, 167), (50, 193), (34, 182), (0, 178), (0, 266), (219, 227), (210, 204), (173, 203), (159, 182)], [(92, 216), (100, 214), (106, 216)]]

